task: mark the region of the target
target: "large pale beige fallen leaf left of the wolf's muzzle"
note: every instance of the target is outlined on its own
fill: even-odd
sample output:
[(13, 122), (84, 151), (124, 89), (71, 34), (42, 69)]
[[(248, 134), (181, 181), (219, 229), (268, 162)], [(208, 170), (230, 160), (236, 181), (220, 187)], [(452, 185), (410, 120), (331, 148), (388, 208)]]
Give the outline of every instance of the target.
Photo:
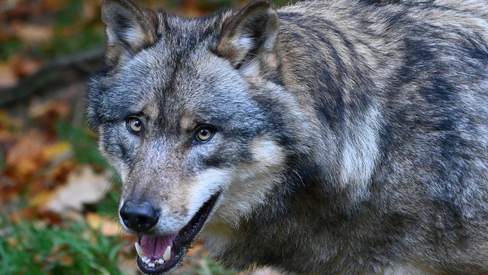
[(57, 188), (46, 209), (63, 214), (71, 209), (81, 211), (83, 204), (94, 204), (103, 198), (111, 176), (108, 172), (96, 174), (89, 165), (83, 166), (68, 176), (65, 186)]

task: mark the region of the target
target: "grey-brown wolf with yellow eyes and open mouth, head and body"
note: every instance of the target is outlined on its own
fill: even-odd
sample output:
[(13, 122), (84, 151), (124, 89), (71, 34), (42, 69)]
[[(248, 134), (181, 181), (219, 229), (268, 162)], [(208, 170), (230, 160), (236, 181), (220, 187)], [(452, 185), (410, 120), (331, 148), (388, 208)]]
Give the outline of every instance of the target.
[(488, 274), (488, 1), (103, 0), (87, 114), (144, 274)]

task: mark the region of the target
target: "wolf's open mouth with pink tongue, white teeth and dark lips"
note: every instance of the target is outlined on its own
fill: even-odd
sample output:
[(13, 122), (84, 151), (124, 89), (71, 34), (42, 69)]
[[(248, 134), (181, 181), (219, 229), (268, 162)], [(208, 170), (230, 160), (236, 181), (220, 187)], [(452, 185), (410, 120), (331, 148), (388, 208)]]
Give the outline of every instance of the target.
[(145, 274), (162, 274), (176, 267), (191, 248), (220, 193), (206, 201), (190, 222), (178, 233), (163, 236), (139, 236), (136, 243), (137, 265)]

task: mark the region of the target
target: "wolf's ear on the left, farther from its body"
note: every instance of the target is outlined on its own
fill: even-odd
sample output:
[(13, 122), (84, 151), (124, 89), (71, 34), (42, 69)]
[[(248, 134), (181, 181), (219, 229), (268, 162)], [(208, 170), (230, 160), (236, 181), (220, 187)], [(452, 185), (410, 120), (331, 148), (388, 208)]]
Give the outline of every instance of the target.
[(102, 21), (107, 36), (107, 65), (125, 62), (157, 41), (158, 17), (129, 0), (103, 0)]

